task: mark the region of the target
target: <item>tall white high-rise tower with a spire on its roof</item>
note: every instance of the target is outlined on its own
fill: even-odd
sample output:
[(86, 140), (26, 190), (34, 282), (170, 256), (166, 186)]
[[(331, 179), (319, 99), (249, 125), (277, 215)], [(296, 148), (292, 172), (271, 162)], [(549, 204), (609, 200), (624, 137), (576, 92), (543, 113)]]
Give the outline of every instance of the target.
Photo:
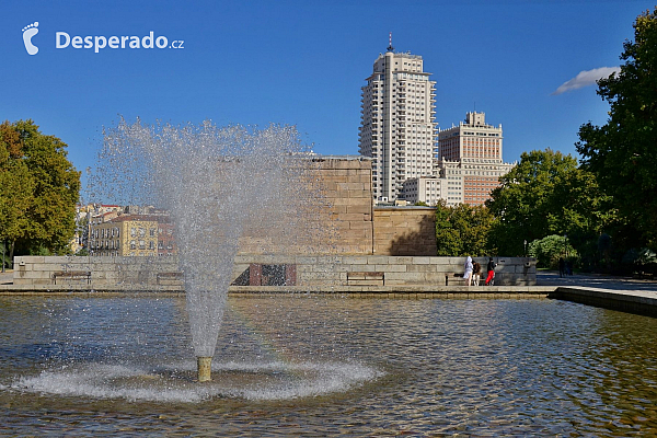
[(436, 152), (436, 82), (422, 56), (395, 53), (374, 61), (361, 93), (359, 152), (372, 159), (372, 194), (393, 201), (407, 178), (430, 175)]

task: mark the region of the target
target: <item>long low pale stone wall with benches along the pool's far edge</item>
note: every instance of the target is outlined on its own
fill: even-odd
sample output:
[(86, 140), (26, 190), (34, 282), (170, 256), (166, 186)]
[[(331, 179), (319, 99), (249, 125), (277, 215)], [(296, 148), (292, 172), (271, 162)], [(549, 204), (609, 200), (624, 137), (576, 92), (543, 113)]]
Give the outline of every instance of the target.
[[(534, 258), (497, 257), (496, 286), (534, 286)], [(475, 258), (485, 266), (487, 258)], [(252, 265), (293, 265), (295, 286), (463, 286), (464, 257), (385, 255), (238, 255), (233, 280), (249, 277)], [(13, 283), (51, 289), (181, 290), (177, 257), (15, 257)], [(66, 275), (70, 273), (71, 275)], [(89, 274), (87, 277), (85, 274)], [(485, 279), (482, 273), (482, 284)], [(244, 283), (243, 283), (244, 284)], [(247, 280), (245, 283), (249, 285)], [(257, 286), (253, 287), (254, 289)]]

